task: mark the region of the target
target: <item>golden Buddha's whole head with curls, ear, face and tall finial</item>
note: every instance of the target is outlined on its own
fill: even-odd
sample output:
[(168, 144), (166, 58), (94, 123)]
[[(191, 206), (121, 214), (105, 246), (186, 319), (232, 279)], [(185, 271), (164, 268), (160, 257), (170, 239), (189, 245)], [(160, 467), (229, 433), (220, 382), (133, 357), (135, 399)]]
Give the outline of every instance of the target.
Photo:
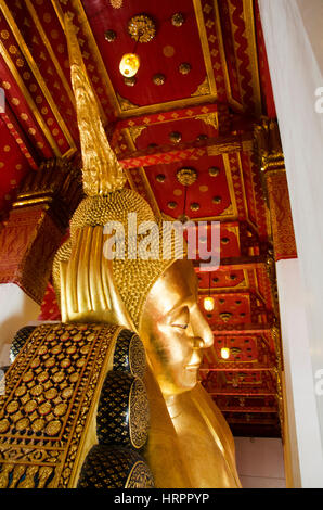
[[(138, 224), (160, 219), (137, 192), (124, 188), (125, 175), (106, 139), (95, 97), (85, 69), (73, 24), (65, 18), (72, 84), (76, 98), (82, 152), (83, 190), (70, 221), (70, 240), (57, 252), (53, 280), (66, 321), (100, 321), (133, 327), (145, 345), (153, 371), (166, 396), (191, 390), (197, 381), (202, 348), (212, 335), (197, 305), (191, 262), (176, 237), (169, 258), (129, 256), (107, 260), (104, 227), (118, 222), (129, 246), (129, 214)], [(137, 239), (142, 239), (137, 234)], [(133, 234), (131, 233), (131, 238)]]

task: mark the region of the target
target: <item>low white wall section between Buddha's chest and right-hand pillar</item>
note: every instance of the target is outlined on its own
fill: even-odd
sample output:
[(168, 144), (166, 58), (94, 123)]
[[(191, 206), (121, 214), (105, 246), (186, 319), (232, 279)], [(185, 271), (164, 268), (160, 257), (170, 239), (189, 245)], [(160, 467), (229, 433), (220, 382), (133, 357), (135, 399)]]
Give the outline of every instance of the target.
[(243, 488), (286, 488), (281, 439), (234, 437)]

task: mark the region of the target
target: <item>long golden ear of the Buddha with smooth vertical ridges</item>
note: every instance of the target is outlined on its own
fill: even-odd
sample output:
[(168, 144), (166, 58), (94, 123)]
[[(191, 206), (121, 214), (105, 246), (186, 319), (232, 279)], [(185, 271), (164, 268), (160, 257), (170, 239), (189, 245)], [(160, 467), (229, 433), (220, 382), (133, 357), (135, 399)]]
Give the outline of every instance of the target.
[(60, 263), (61, 313), (65, 322), (105, 322), (134, 331), (103, 254), (103, 227), (78, 229), (68, 262)]

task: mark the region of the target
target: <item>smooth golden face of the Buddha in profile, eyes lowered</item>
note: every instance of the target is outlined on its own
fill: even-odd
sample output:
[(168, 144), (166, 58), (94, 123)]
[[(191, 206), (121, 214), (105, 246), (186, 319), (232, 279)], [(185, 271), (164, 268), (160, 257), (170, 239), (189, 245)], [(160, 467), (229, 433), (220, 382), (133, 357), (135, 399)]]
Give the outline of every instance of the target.
[(191, 260), (177, 260), (148, 293), (140, 336), (164, 396), (186, 392), (197, 382), (203, 348), (212, 333), (197, 305)]

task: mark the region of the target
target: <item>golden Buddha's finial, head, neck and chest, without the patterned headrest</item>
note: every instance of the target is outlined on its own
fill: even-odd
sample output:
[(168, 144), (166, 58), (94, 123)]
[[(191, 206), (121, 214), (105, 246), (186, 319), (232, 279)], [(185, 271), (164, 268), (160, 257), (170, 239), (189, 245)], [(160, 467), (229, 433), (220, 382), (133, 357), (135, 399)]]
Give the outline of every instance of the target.
[[(77, 44), (73, 37), (73, 43)], [(72, 73), (73, 62), (74, 58)], [(75, 87), (78, 111), (83, 111), (83, 97), (90, 97), (81, 68), (79, 60), (75, 82), (82, 84), (83, 95)], [(87, 125), (80, 124), (81, 133), (82, 126)], [(104, 135), (101, 128), (99, 123), (91, 125), (90, 129), (98, 131), (93, 140)], [(74, 214), (70, 241), (55, 257), (54, 284), (61, 291), (62, 315), (67, 321), (122, 323), (137, 329), (142, 337), (148, 358), (145, 383), (151, 411), (144, 455), (157, 487), (238, 487), (229, 426), (207, 393), (197, 385), (202, 349), (212, 345), (212, 333), (198, 308), (192, 263), (178, 260), (183, 248), (176, 242), (169, 259), (163, 259), (160, 242), (159, 256), (155, 259), (132, 258), (131, 248), (130, 256), (125, 258), (106, 260), (103, 255), (103, 226), (107, 221), (121, 224), (125, 244), (128, 250), (131, 246), (129, 213), (137, 214), (138, 225), (158, 224), (154, 239), (159, 239), (162, 232), (148, 204), (134, 191), (119, 189), (121, 181), (116, 177), (115, 156), (105, 146), (104, 164), (112, 166), (104, 173), (102, 164), (96, 188), (87, 184), (91, 195)], [(96, 142), (90, 149), (82, 143), (82, 152), (89, 165), (83, 180), (89, 183), (89, 174), (93, 171), (94, 176), (95, 161), (104, 155)], [(111, 178), (111, 183), (105, 178)], [(142, 238), (137, 234), (137, 241)]]

